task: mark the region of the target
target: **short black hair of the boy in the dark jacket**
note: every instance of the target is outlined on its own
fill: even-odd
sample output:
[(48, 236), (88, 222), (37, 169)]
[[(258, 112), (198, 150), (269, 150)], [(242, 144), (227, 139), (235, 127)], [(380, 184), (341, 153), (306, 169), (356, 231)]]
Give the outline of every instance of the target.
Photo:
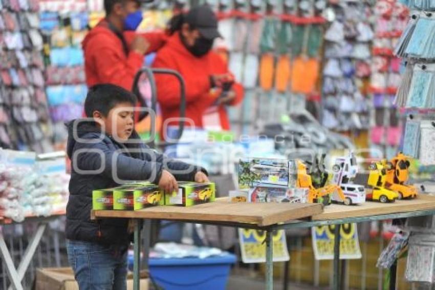
[(95, 111), (99, 111), (104, 117), (107, 117), (108, 112), (119, 103), (129, 102), (136, 106), (137, 101), (136, 95), (124, 88), (111, 84), (95, 85), (89, 89), (86, 96), (84, 112), (88, 118), (92, 118)]

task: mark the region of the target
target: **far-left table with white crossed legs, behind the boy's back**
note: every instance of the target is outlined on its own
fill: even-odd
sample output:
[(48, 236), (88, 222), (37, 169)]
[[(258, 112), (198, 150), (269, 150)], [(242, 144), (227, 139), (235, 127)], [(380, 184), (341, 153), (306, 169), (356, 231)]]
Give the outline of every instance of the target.
[[(61, 211), (61, 212), (53, 213), (49, 217), (27, 216), (25, 218), (23, 223), (33, 221), (33, 222), (37, 222), (38, 226), (36, 229), (36, 233), (31, 238), (31, 240), (26, 248), (26, 251), (25, 251), (23, 258), (21, 258), (21, 261), (18, 265), (18, 268), (15, 268), (11, 254), (9, 252), (7, 245), (6, 245), (5, 238), (3, 237), (3, 234), (0, 231), (0, 255), (2, 256), (3, 260), (5, 261), (6, 270), (7, 270), (8, 276), (11, 280), (11, 285), (9, 286), (10, 290), (12, 290), (12, 288), (14, 288), (15, 290), (22, 290), (23, 289), (23, 285), (21, 284), (21, 281), (23, 280), (24, 275), (26, 274), (27, 268), (29, 267), (29, 264), (32, 261), (32, 258), (35, 255), (36, 248), (37, 248), (37, 246), (42, 238), (42, 235), (44, 234), (44, 231), (47, 227), (47, 224), (50, 221), (52, 221), (60, 216), (65, 215), (65, 213), (66, 213), (65, 211)], [(0, 225), (14, 224), (14, 223), (17, 223), (17, 222), (13, 221), (10, 218), (0, 217)], [(56, 253), (59, 253), (59, 251), (56, 251)]]

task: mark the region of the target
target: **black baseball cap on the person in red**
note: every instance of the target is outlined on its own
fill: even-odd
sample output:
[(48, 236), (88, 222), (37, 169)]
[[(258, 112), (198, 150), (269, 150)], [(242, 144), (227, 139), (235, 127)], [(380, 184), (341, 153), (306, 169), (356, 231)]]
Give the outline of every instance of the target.
[(185, 15), (185, 23), (197, 28), (207, 39), (222, 37), (217, 29), (217, 18), (207, 5), (193, 7)]

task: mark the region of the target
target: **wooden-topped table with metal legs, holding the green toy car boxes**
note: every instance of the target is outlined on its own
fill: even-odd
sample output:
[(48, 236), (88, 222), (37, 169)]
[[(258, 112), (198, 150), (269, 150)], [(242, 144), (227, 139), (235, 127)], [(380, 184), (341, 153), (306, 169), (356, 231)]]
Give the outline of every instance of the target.
[[(139, 290), (140, 232), (144, 219), (179, 220), (266, 231), (266, 289), (273, 289), (273, 226), (322, 212), (321, 204), (302, 203), (230, 203), (228, 198), (190, 206), (156, 206), (140, 211), (93, 211), (94, 218), (136, 219), (134, 240), (134, 289)], [(145, 254), (146, 256), (146, 254)]]

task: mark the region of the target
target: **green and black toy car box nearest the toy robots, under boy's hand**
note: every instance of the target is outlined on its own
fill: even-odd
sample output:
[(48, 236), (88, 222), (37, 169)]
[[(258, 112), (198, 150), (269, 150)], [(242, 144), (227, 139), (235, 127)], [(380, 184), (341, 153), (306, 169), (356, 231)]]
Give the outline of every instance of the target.
[(212, 202), (215, 199), (215, 184), (213, 182), (179, 182), (178, 192), (165, 193), (165, 205), (191, 206)]

